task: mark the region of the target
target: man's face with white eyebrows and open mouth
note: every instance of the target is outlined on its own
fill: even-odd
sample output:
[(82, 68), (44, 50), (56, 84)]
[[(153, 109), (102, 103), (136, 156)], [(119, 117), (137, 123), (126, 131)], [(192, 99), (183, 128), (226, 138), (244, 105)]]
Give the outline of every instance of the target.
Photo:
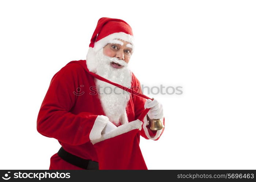
[[(128, 63), (132, 55), (132, 45), (120, 39), (114, 39), (110, 41), (105, 47), (103, 47), (103, 54), (111, 58), (117, 58), (123, 60), (125, 63)], [(114, 62), (111, 63), (113, 68), (122, 68), (120, 64)]]

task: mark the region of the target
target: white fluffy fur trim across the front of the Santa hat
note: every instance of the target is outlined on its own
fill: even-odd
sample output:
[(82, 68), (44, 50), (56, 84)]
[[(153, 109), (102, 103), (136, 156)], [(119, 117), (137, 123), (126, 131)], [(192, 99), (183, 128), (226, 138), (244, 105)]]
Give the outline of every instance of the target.
[[(112, 34), (102, 38), (101, 40), (95, 42), (94, 51), (98, 52), (101, 48), (105, 47), (109, 43), (110, 40), (113, 40), (113, 39), (121, 39), (123, 41), (127, 41), (132, 44), (133, 49), (134, 49), (134, 38), (132, 35), (129, 35), (124, 32), (116, 32), (116, 33), (112, 33)], [(133, 49), (132, 49), (132, 52), (134, 51)]]

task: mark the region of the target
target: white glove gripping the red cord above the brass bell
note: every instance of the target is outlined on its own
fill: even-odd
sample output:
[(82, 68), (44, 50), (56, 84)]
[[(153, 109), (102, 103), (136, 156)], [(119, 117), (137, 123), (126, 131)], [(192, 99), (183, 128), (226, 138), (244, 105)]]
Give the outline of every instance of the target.
[(163, 117), (163, 106), (156, 99), (147, 99), (144, 108), (150, 108), (147, 115), (150, 119), (161, 119)]

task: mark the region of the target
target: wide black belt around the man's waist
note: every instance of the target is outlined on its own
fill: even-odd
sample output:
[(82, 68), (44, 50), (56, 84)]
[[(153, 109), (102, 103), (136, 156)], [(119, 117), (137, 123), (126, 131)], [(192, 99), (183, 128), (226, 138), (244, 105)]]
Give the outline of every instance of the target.
[(58, 151), (58, 155), (60, 158), (62, 158), (64, 161), (71, 163), (72, 165), (75, 165), (77, 167), (80, 167), (82, 169), (99, 169), (99, 163), (87, 159), (80, 158), (76, 155), (73, 155), (63, 149), (63, 147), (60, 147), (60, 150)]

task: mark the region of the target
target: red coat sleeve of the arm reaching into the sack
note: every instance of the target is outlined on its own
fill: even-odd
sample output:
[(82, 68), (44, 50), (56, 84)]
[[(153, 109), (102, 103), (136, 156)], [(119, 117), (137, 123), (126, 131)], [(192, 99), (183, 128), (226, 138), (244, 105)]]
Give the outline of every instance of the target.
[(77, 96), (73, 94), (78, 85), (79, 64), (67, 64), (57, 72), (48, 88), (37, 118), (37, 131), (69, 145), (89, 142), (89, 134), (98, 115), (89, 112), (69, 112)]

